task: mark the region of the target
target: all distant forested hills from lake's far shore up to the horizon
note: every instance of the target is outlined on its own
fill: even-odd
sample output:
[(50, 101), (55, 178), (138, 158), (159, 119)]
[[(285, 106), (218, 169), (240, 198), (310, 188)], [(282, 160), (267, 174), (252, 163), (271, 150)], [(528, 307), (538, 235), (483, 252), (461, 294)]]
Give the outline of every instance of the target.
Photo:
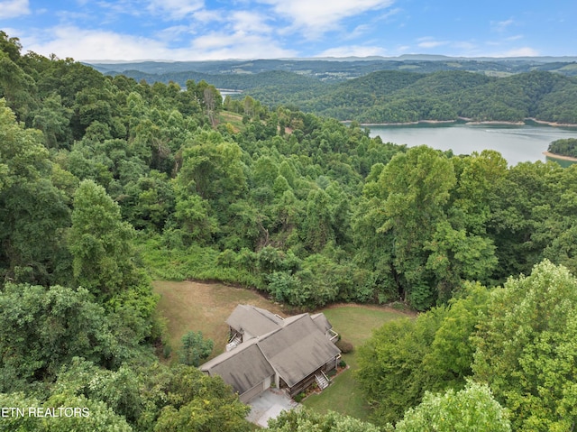
[[(549, 123), (577, 124), (577, 108), (572, 103), (577, 97), (577, 78), (563, 73), (577, 68), (568, 63), (556, 70), (554, 65), (505, 60), (497, 63), (256, 60), (178, 65), (136, 63), (124, 68), (141, 70), (124, 70), (124, 74), (149, 83), (173, 81), (180, 86), (185, 86), (188, 79), (206, 80), (218, 88), (243, 90), (245, 96), (270, 108), (291, 106), (315, 115), (364, 124), (455, 121), (459, 117), (499, 122), (535, 118)], [(200, 71), (180, 70), (186, 67)], [(352, 74), (353, 69), (356, 74)], [(496, 77), (490, 71), (503, 73)]]

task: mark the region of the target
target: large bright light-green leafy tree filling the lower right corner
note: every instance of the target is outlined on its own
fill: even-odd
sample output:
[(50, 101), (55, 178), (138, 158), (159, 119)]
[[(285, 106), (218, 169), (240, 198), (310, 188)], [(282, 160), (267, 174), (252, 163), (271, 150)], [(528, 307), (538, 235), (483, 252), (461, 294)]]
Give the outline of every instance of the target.
[(516, 430), (577, 425), (577, 279), (544, 261), (493, 290), (473, 372), (510, 409)]

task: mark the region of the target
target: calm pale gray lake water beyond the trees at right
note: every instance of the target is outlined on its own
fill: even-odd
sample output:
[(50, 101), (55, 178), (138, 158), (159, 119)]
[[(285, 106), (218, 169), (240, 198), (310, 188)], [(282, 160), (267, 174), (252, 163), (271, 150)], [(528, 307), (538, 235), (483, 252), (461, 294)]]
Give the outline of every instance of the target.
[(545, 161), (552, 141), (577, 138), (577, 127), (553, 127), (536, 124), (411, 124), (399, 126), (369, 126), (371, 137), (383, 142), (426, 144), (438, 150), (453, 150), (454, 154), (471, 154), (484, 149), (496, 150), (517, 165), (524, 161)]

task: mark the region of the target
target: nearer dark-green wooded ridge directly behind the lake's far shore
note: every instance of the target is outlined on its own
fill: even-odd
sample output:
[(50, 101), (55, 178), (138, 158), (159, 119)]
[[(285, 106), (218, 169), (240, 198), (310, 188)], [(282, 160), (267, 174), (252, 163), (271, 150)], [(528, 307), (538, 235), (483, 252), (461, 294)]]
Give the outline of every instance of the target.
[(521, 122), (527, 118), (577, 124), (577, 78), (545, 71), (494, 78), (464, 71), (420, 74), (378, 71), (362, 78), (295, 93), (282, 85), (247, 90), (269, 106), (291, 104), (316, 115), (361, 123), (423, 120)]

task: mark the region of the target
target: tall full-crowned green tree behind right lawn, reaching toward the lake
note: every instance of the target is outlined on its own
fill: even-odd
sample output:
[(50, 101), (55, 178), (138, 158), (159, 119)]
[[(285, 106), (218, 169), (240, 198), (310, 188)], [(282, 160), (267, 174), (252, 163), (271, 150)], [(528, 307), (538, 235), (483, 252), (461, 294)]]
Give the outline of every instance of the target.
[(387, 234), (392, 244), (390, 266), (398, 293), (419, 310), (429, 308), (437, 297), (426, 269), (425, 244), (446, 220), (444, 206), (455, 181), (451, 161), (421, 146), (395, 155), (380, 171), (376, 190), (371, 189), (377, 199), (370, 206), (384, 216), (376, 234)]

